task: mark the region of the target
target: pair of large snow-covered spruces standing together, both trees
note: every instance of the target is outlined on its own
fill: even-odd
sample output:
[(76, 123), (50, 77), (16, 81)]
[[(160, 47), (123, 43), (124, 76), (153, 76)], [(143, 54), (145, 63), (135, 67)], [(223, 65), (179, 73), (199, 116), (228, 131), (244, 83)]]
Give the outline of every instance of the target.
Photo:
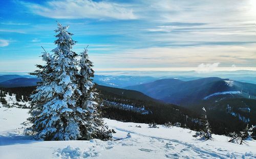
[(46, 64), (37, 65), (39, 70), (31, 73), (41, 81), (31, 96), (31, 129), (38, 140), (110, 139), (112, 131), (97, 112), (92, 62), (87, 50), (76, 60), (78, 55), (72, 51), (76, 42), (68, 28), (58, 23), (53, 55), (45, 51), (42, 60)]

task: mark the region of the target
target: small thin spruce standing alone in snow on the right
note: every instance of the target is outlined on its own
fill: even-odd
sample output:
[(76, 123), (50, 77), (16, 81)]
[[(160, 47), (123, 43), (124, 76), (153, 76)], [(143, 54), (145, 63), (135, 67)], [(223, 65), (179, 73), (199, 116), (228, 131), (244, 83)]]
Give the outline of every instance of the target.
[(195, 135), (193, 135), (193, 137), (197, 138), (197, 137), (200, 137), (201, 140), (211, 140), (211, 131), (210, 131), (210, 124), (209, 124), (209, 121), (207, 119), (207, 116), (206, 116), (206, 110), (205, 108), (203, 107), (202, 108), (203, 110), (203, 119), (200, 120), (200, 122), (203, 124), (203, 129), (201, 131), (197, 131)]

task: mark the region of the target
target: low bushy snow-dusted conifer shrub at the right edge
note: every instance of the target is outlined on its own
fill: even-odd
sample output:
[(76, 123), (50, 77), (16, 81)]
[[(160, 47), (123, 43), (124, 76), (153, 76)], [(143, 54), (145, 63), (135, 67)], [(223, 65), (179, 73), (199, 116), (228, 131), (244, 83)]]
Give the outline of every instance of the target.
[(247, 124), (245, 129), (243, 131), (240, 131), (240, 133), (230, 133), (229, 137), (231, 137), (231, 139), (228, 142), (238, 143), (242, 145), (243, 143), (245, 143), (245, 140), (252, 140), (251, 135), (255, 128), (256, 126), (253, 125), (249, 128)]

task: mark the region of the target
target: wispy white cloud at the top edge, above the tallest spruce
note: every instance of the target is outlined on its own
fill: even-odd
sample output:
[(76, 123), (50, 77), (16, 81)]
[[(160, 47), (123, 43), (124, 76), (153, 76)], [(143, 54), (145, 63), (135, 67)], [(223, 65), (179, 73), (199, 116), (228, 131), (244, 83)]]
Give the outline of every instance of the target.
[(49, 1), (46, 5), (21, 2), (34, 14), (57, 19), (136, 19), (133, 10), (124, 4), (91, 0)]

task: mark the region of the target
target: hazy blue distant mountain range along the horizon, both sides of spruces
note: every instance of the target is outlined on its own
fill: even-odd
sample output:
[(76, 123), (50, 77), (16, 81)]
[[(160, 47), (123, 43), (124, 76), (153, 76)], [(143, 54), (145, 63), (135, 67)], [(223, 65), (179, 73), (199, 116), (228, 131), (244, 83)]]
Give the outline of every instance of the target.
[[(240, 72), (234, 71), (233, 73), (237, 73), (237, 74), (227, 74), (226, 76), (229, 75), (230, 79), (234, 81), (256, 84), (256, 75), (253, 74), (254, 72), (251, 72), (252, 73), (251, 76), (249, 74), (243, 74), (244, 76), (241, 76), (241, 74), (239, 74), (239, 73), (248, 73), (248, 71), (240, 71)], [(203, 75), (203, 74), (197, 74), (197, 75)], [(220, 74), (220, 76), (223, 77), (225, 75)], [(25, 79), (19, 79), (16, 82), (9, 81), (15, 78), (25, 78)], [(36, 80), (34, 81), (27, 80), (27, 78), (35, 78), (35, 77), (31, 75), (17, 75), (17, 74), (0, 75), (0, 87), (22, 87), (22, 86), (34, 86), (36, 84), (34, 82)], [(159, 77), (133, 76), (133, 75), (97, 75), (96, 74), (93, 80), (94, 80), (94, 83), (98, 85), (115, 87), (115, 88), (125, 88), (128, 86), (150, 83), (150, 82), (167, 79), (167, 78), (174, 78), (176, 80), (181, 80), (181, 81), (193, 81), (193, 80), (198, 80), (202, 77), (191, 76), (191, 75), (187, 76), (186, 74), (184, 74), (184, 72), (183, 74), (181, 72), (180, 75), (177, 74), (177, 72), (175, 72), (169, 76), (159, 76)], [(25, 81), (27, 81), (26, 85), (24, 85)]]

